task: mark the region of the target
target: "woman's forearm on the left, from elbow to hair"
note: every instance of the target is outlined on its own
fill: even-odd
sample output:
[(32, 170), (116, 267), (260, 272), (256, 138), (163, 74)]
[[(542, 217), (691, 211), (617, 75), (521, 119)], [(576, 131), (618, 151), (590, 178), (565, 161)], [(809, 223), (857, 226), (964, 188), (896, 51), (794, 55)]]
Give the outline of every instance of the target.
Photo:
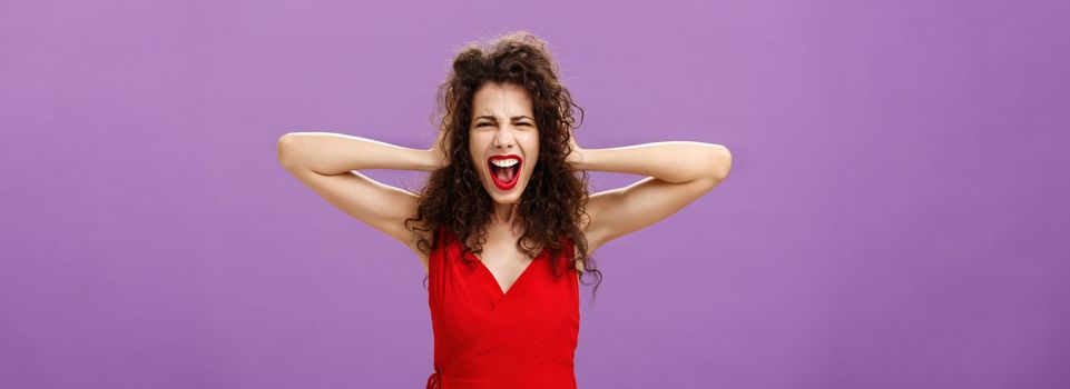
[(278, 159), (286, 169), (311, 169), (322, 174), (363, 169), (431, 171), (441, 166), (436, 157), (432, 150), (333, 132), (291, 132), (278, 140)]

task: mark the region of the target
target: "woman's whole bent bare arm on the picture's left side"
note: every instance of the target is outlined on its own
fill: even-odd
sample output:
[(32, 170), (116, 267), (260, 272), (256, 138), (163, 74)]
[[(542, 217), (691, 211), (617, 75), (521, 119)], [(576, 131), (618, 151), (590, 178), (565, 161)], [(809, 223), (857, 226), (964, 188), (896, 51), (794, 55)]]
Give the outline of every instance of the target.
[(402, 242), (423, 259), (416, 239), (404, 227), (405, 219), (416, 215), (418, 194), (355, 170), (436, 170), (448, 163), (441, 138), (440, 132), (431, 149), (421, 150), (342, 133), (291, 132), (278, 139), (278, 161), (328, 203)]

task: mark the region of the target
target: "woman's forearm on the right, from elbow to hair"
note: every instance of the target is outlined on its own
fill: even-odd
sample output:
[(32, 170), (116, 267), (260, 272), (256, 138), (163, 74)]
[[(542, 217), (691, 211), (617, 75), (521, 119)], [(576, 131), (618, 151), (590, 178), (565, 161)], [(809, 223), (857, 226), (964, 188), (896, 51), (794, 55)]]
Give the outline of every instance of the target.
[(732, 154), (721, 144), (693, 141), (583, 149), (573, 169), (650, 176), (668, 182), (724, 179)]

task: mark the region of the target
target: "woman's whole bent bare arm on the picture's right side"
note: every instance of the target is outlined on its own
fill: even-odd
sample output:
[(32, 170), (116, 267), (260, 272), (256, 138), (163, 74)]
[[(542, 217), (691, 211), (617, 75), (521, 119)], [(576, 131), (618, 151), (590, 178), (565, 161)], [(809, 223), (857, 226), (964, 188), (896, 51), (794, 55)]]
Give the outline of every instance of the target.
[(716, 143), (654, 142), (581, 149), (576, 138), (567, 161), (572, 170), (649, 176), (628, 187), (590, 196), (585, 230), (588, 250), (668, 218), (728, 177), (732, 153)]

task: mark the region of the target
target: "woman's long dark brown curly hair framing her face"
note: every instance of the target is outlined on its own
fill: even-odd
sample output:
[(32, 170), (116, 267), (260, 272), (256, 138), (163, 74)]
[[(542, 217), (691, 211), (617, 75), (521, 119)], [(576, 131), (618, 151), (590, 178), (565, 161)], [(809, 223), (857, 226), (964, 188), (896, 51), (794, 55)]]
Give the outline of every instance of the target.
[[(416, 217), (406, 219), (405, 228), (413, 235), (418, 235), (418, 230), (445, 228), (461, 242), (474, 237), (475, 247), (468, 249), (482, 251), (494, 200), (481, 186), (467, 151), (472, 99), (488, 82), (517, 84), (531, 99), (540, 148), (538, 163), (517, 207), (519, 217), (514, 226), (520, 225), (523, 231), (517, 247), (530, 257), (539, 255), (537, 248), (544, 248), (551, 258), (557, 258), (567, 247), (562, 238), (568, 238), (578, 249), (575, 256), (569, 253), (571, 262), (568, 263), (576, 268), (577, 262), (582, 262), (583, 270), (576, 269), (580, 280), (590, 273), (596, 279), (593, 293), (597, 295), (601, 272), (595, 268), (587, 252), (587, 238), (579, 228), (581, 218), (589, 219), (585, 210), (589, 176), (580, 170), (577, 177), (566, 162), (572, 151), (571, 132), (582, 123), (583, 109), (572, 101), (568, 89), (558, 80), (558, 72), (547, 43), (527, 31), (502, 34), (483, 44), (468, 43), (458, 51), (449, 77), (438, 89), (432, 118), (438, 119), (439, 131), (444, 131), (443, 149), (449, 150), (450, 163), (428, 178), (419, 193)], [(572, 117), (572, 107), (580, 111), (580, 123)], [(419, 235), (416, 247), (430, 255), (438, 247), (438, 240), (434, 232)], [(551, 261), (551, 268), (557, 277), (562, 276), (557, 261)], [(425, 277), (424, 282), (426, 280)]]

